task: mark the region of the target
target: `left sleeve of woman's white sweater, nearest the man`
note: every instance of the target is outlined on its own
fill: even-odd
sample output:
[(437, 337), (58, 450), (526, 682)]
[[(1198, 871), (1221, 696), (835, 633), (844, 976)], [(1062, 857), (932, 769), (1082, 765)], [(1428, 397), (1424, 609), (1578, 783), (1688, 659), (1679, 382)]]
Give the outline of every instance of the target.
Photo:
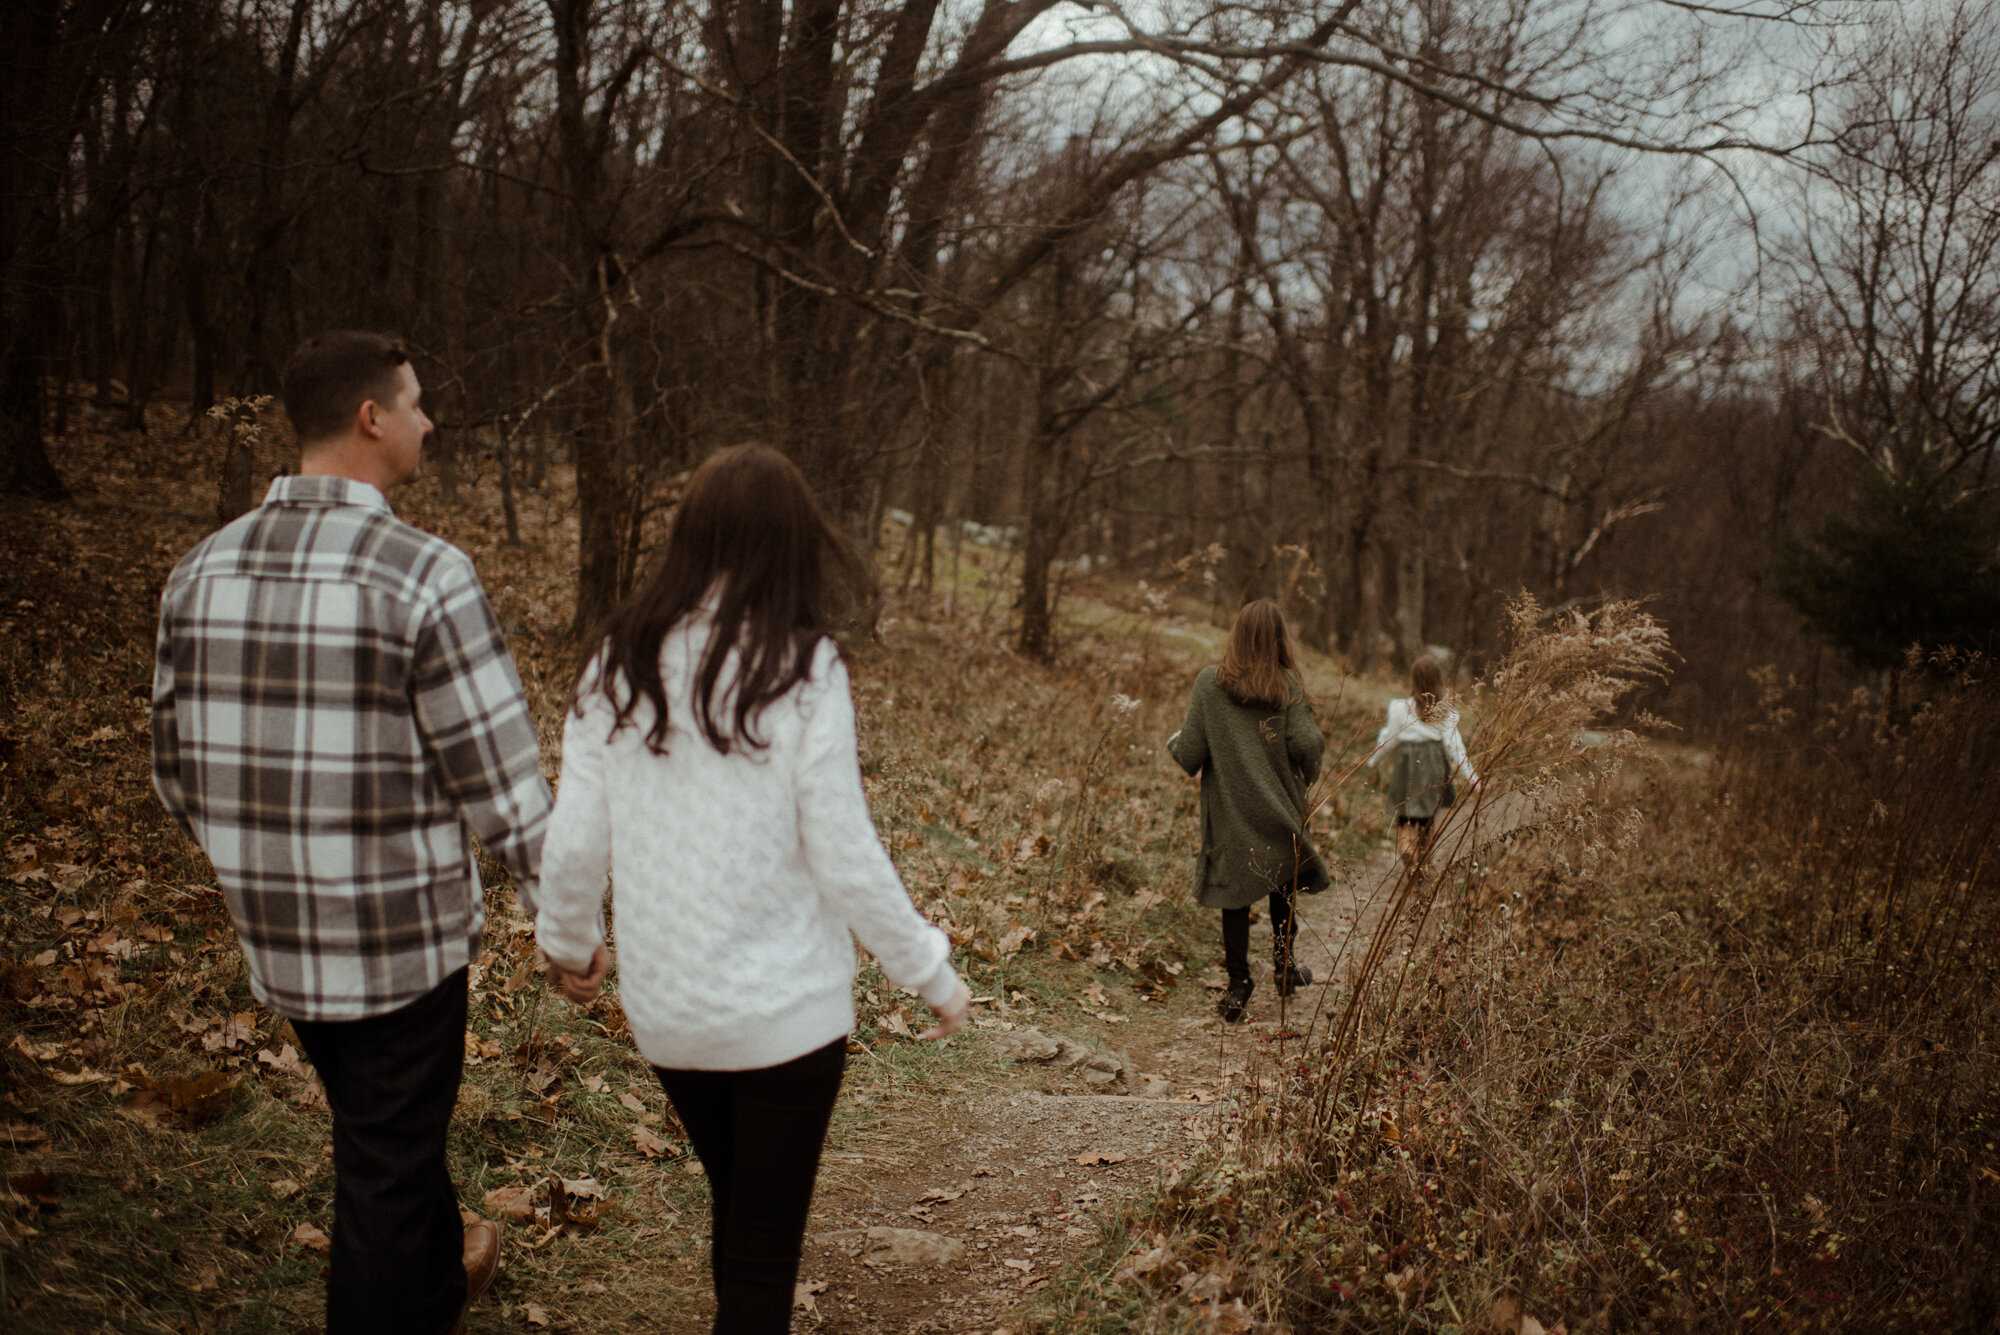
[(562, 719), (562, 777), (542, 841), (542, 901), (534, 939), (564, 969), (584, 971), (604, 943), (604, 885), (612, 871), (612, 821), (604, 799), (604, 749), (612, 711), (602, 691), (578, 691), (582, 713)]

